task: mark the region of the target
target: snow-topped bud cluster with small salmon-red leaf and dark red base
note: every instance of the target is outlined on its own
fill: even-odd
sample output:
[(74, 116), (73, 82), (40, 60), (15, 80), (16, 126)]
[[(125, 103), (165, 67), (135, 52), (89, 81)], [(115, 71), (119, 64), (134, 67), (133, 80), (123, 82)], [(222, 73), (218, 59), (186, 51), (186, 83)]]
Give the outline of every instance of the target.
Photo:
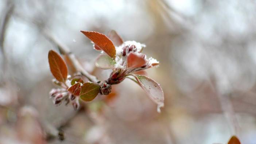
[(156, 59), (147, 59), (146, 55), (141, 53), (144, 47), (146, 47), (144, 44), (135, 41), (127, 41), (116, 47), (115, 65), (112, 66), (113, 72), (106, 83), (109, 85), (118, 84), (130, 73), (159, 65)]

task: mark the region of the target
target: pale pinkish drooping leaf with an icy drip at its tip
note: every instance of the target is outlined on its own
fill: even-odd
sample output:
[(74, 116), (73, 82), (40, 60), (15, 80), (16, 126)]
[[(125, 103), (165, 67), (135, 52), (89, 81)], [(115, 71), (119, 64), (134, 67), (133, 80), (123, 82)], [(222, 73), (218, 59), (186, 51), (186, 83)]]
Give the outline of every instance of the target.
[(139, 85), (148, 94), (151, 100), (153, 100), (158, 105), (157, 111), (160, 113), (160, 108), (164, 106), (164, 93), (162, 88), (151, 78), (148, 78), (144, 75), (132, 75), (136, 78), (136, 80), (139, 82)]

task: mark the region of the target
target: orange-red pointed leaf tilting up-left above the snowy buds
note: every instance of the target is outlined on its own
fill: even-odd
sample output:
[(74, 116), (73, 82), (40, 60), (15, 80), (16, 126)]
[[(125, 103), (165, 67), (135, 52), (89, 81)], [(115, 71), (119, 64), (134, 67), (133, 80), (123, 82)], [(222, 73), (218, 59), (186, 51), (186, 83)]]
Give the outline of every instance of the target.
[(95, 31), (81, 31), (87, 38), (92, 40), (98, 47), (100, 47), (111, 58), (116, 58), (116, 47), (113, 42), (104, 34)]

